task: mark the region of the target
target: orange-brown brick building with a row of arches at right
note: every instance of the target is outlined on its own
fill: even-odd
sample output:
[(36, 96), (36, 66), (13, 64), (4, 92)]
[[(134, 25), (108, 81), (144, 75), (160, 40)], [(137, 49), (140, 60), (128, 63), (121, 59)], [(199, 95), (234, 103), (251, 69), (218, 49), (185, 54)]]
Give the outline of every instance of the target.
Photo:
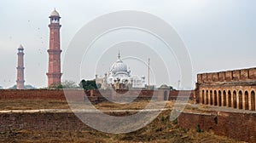
[(227, 73), (198, 74), (195, 89), (197, 103), (255, 111), (256, 69)]

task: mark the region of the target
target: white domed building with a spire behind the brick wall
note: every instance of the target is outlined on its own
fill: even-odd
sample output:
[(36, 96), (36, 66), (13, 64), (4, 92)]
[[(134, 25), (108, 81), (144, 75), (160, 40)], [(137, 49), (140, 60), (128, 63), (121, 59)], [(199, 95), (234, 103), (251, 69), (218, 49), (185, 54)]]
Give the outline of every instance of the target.
[(120, 58), (113, 63), (108, 73), (104, 77), (96, 75), (98, 89), (143, 89), (145, 88), (145, 77), (131, 75), (131, 69)]

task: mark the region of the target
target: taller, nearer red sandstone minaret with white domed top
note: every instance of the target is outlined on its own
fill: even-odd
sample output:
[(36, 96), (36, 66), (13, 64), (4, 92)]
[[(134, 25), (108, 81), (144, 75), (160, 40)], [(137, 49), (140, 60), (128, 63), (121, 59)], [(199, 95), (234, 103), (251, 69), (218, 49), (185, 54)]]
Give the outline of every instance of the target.
[(60, 44), (60, 14), (54, 10), (50, 16), (49, 24), (49, 66), (48, 66), (48, 87), (61, 84), (61, 44)]

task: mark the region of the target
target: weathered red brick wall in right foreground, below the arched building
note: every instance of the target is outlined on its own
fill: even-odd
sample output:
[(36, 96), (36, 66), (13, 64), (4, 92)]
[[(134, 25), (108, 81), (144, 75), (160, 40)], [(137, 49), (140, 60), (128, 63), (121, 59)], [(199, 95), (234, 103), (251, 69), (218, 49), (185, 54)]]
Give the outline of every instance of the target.
[(210, 112), (197, 114), (182, 112), (177, 123), (184, 129), (212, 129), (214, 134), (248, 142), (256, 142), (256, 114), (236, 112)]

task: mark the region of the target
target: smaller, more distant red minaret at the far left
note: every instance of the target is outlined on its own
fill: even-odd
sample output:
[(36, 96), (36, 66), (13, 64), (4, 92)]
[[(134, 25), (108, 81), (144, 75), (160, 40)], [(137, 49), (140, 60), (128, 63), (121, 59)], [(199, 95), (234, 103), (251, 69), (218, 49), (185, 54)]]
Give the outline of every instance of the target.
[(23, 47), (20, 44), (20, 47), (18, 48), (18, 66), (17, 66), (17, 89), (24, 89), (24, 53), (23, 53)]

